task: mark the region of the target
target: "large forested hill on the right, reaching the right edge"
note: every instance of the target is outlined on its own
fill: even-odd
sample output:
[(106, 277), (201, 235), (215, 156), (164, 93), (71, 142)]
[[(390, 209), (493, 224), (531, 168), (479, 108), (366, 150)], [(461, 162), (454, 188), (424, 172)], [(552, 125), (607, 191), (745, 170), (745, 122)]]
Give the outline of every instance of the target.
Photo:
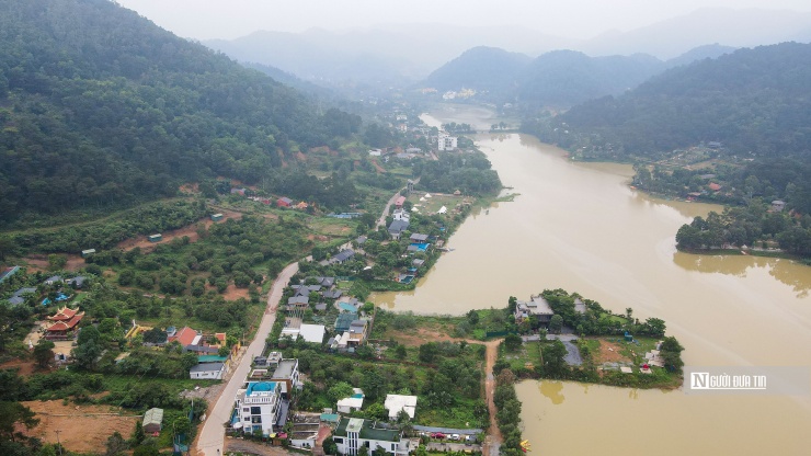
[[(740, 49), (671, 69), (636, 90), (573, 107), (525, 130), (598, 158), (721, 142), (759, 158), (811, 158), (811, 45)], [(593, 150), (592, 150), (593, 149)]]

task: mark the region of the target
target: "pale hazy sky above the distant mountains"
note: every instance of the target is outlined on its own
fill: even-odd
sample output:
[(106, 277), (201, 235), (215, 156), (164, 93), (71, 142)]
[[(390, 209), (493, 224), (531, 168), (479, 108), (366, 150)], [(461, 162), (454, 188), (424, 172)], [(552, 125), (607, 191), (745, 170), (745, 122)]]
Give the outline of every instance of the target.
[(117, 0), (175, 34), (235, 38), (258, 30), (301, 32), (376, 24), (523, 25), (587, 38), (699, 8), (811, 11), (810, 0)]

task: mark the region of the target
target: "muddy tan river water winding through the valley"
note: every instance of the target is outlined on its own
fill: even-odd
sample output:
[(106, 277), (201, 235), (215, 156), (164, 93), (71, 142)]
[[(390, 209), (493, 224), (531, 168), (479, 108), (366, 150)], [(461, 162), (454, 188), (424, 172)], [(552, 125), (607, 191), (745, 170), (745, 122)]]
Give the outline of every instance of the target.
[[(487, 129), (481, 109), (423, 116)], [(628, 166), (574, 163), (534, 137), (478, 135), (519, 194), (471, 216), (396, 310), (462, 314), (563, 288), (637, 318), (662, 318), (687, 365), (811, 365), (811, 267), (787, 260), (677, 252), (675, 232), (718, 206), (660, 201), (628, 187)], [(524, 437), (536, 454), (811, 454), (811, 398), (686, 396), (576, 383), (524, 381)]]

